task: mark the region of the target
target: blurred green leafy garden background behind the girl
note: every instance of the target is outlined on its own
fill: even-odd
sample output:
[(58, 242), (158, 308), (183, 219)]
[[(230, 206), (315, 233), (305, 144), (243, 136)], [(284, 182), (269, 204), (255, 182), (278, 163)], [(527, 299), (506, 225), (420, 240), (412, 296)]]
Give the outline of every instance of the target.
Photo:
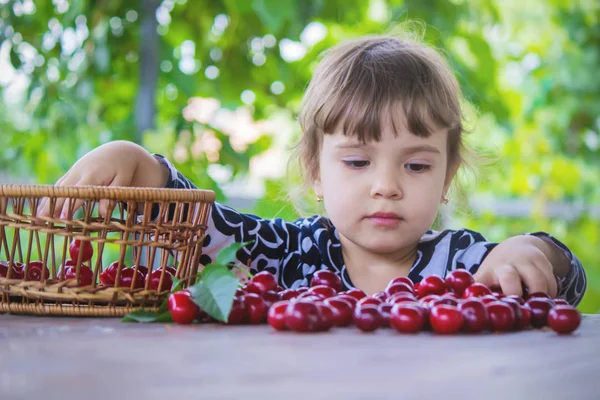
[(600, 312), (597, 0), (0, 0), (0, 182), (54, 183), (126, 139), (218, 201), (294, 219), (286, 166), (319, 53), (399, 28), (448, 58), (492, 160), (438, 227), (552, 233)]

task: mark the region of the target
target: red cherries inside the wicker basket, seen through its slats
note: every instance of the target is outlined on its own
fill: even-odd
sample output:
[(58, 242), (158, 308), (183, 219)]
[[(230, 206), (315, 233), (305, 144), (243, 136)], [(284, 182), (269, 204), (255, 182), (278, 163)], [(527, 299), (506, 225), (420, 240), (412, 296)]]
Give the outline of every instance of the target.
[[(94, 271), (86, 262), (92, 259), (94, 255), (94, 249), (92, 244), (88, 241), (72, 240), (69, 245), (69, 255), (71, 259), (66, 260), (57, 274), (57, 280), (72, 279), (77, 280), (77, 260), (81, 253), (81, 265), (79, 266), (79, 286), (89, 286), (94, 280)], [(104, 286), (114, 286), (117, 280), (117, 272), (119, 269), (119, 262), (115, 261), (110, 264), (104, 271), (100, 273), (100, 283)], [(44, 265), (42, 261), (30, 261), (27, 268), (25, 264), (20, 262), (13, 262), (9, 265), (6, 261), (0, 261), (0, 278), (6, 278), (9, 276), (10, 270), (11, 279), (25, 279), (28, 281), (41, 281), (50, 277), (50, 271), (48, 267)], [(25, 277), (27, 272), (27, 277)], [(150, 290), (170, 290), (173, 285), (173, 277), (177, 271), (175, 268), (167, 266), (165, 268), (162, 285), (160, 284), (160, 278), (162, 270), (152, 271), (148, 277), (148, 268), (139, 265), (137, 270), (134, 267), (127, 267), (123, 265), (121, 268), (121, 274), (119, 276), (119, 287), (131, 287), (133, 283), (134, 289), (141, 289), (145, 287), (146, 279), (150, 279)], [(135, 278), (135, 282), (134, 282)]]

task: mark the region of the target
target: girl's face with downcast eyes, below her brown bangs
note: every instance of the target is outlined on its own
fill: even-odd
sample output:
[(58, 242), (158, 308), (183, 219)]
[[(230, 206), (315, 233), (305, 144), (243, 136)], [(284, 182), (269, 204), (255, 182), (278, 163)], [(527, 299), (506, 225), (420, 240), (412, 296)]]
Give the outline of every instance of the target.
[(324, 135), (314, 189), (340, 240), (381, 255), (416, 246), (446, 192), (446, 141), (445, 129), (420, 138), (387, 127), (366, 144)]

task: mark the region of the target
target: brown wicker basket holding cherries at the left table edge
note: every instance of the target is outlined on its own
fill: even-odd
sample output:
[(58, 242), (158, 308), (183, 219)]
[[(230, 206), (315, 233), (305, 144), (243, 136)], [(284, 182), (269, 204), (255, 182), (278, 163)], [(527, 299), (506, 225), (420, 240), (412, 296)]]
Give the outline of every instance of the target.
[[(43, 199), (50, 216), (64, 201), (66, 216), (40, 215)], [(139, 308), (157, 309), (170, 290), (163, 284), (169, 267), (184, 286), (196, 281), (214, 200), (208, 190), (0, 185), (0, 261), (8, 268), (0, 274), (0, 313), (119, 317)], [(105, 215), (99, 212), (101, 201), (108, 204)], [(76, 202), (82, 205), (78, 209)], [(76, 277), (65, 279), (61, 266), (77, 240), (91, 243), (93, 255), (85, 262), (82, 254), (72, 260)], [(48, 275), (32, 280), (33, 261), (40, 261)], [(115, 283), (104, 285), (100, 274), (114, 262)], [(93, 271), (86, 286), (80, 284), (82, 264)], [(13, 271), (17, 267), (22, 277)], [(125, 268), (139, 277), (143, 267), (148, 276), (162, 271), (157, 290), (150, 289), (150, 279), (143, 279), (143, 287), (135, 278), (121, 287)]]

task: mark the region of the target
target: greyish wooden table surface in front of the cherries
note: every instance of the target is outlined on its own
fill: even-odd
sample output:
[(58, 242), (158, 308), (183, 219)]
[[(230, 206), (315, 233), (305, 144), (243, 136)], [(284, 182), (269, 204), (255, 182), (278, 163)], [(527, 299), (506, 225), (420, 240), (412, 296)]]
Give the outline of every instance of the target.
[(0, 399), (124, 398), (600, 399), (600, 315), (452, 337), (0, 315)]

